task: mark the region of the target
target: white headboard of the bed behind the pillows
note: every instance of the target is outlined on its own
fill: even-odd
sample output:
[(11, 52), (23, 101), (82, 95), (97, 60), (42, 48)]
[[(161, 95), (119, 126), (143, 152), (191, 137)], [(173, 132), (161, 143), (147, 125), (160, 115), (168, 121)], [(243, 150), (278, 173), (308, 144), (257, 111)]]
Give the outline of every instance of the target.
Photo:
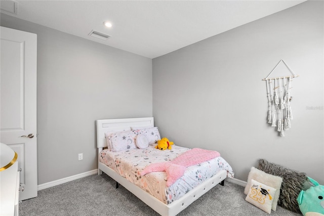
[(153, 117), (131, 119), (102, 119), (97, 120), (97, 148), (107, 147), (105, 132), (119, 131), (124, 127), (153, 127)]

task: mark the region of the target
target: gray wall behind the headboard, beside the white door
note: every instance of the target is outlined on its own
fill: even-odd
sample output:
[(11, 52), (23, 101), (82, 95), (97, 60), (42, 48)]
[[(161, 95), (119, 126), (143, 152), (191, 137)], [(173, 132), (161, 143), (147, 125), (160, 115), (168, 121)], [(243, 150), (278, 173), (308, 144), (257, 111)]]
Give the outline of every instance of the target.
[(98, 167), (95, 120), (152, 116), (151, 59), (4, 14), (1, 25), (37, 34), (38, 185)]

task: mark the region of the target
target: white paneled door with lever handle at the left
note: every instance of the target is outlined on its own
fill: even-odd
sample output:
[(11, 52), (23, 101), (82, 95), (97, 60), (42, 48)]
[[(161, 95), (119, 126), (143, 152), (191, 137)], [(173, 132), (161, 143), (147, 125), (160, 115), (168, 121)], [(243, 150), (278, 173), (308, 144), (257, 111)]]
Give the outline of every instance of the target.
[(6, 27), (0, 34), (0, 141), (18, 154), (25, 200), (37, 196), (37, 35)]

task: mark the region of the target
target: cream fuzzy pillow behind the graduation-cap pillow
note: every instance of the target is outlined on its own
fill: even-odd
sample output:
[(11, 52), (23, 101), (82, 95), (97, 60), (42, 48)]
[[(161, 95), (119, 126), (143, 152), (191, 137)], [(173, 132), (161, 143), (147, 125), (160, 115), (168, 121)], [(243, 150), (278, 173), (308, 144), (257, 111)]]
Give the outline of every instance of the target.
[(277, 203), (280, 195), (280, 187), (282, 183), (282, 178), (280, 176), (271, 175), (268, 173), (265, 173), (264, 171), (261, 171), (255, 167), (251, 168), (251, 171), (248, 176), (248, 184), (245, 187), (244, 193), (248, 194), (249, 190), (251, 188), (251, 180), (254, 179), (255, 181), (262, 182), (263, 184), (266, 184), (267, 186), (270, 186), (274, 189), (276, 189), (276, 192), (273, 196), (273, 202), (271, 209), (276, 210), (277, 209)]

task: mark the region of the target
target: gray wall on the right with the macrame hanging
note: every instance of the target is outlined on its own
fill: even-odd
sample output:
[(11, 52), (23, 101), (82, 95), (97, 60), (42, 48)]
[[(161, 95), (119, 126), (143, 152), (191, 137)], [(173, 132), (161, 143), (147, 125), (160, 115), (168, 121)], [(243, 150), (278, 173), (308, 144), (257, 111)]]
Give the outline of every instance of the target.
[[(153, 116), (161, 136), (219, 151), (242, 181), (265, 158), (324, 184), (323, 27), (323, 2), (307, 1), (154, 58)], [(266, 123), (261, 81), (280, 59), (300, 75), (285, 137)], [(274, 76), (290, 75), (284, 69)]]

